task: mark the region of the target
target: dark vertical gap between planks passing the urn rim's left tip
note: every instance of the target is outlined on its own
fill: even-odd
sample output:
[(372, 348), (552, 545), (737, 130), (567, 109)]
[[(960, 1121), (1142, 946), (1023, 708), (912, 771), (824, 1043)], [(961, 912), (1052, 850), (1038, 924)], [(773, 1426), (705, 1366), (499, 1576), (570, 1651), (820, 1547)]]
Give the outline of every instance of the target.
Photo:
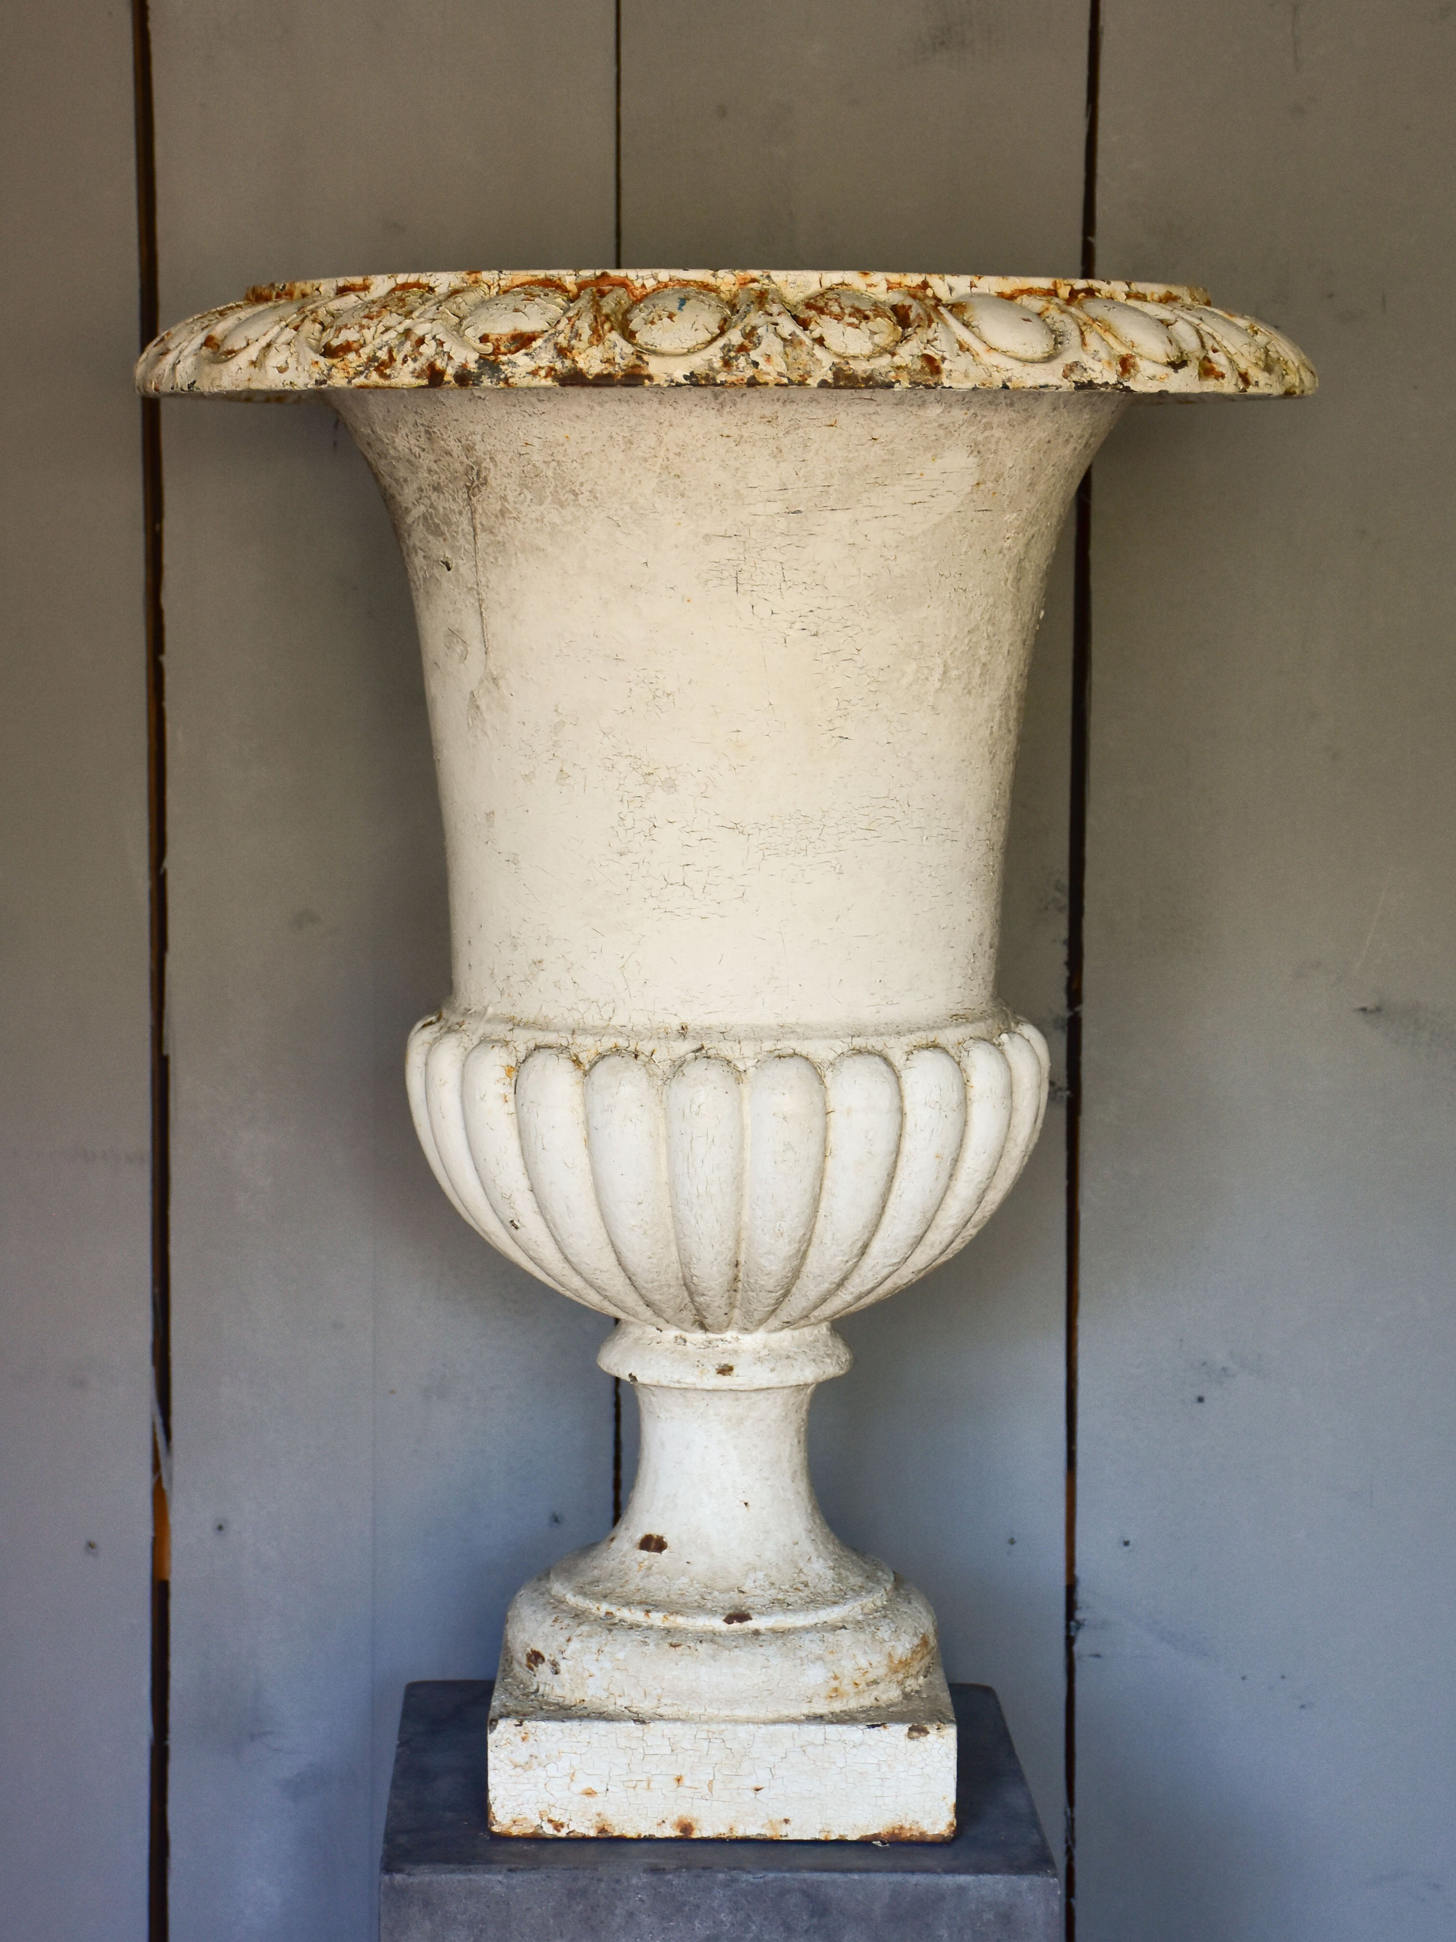
[[(157, 142), (148, 0), (132, 0), (136, 128), (138, 336), (159, 328)], [(148, 944), (151, 1010), (151, 1761), (148, 1812), (148, 1942), (167, 1942), (167, 1742), (171, 1688), (171, 1124), (167, 1072), (167, 693), (161, 612), (161, 421), (142, 414), (142, 588), (148, 711)]]

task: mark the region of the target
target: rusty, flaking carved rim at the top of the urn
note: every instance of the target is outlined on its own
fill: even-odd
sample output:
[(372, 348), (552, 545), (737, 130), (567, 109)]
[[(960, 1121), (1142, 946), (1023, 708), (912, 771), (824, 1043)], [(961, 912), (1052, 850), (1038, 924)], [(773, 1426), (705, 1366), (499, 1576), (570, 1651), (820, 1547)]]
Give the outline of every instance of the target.
[(1289, 338), (1165, 284), (810, 270), (470, 270), (264, 284), (148, 346), (149, 396), (815, 385), (1297, 398)]

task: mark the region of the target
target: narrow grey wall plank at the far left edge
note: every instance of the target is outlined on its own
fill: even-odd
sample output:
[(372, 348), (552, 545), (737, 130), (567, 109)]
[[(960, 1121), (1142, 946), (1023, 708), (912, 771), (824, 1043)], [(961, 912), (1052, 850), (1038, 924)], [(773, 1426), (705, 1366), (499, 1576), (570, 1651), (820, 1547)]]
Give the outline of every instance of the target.
[(0, 1932), (148, 1932), (146, 641), (124, 8), (6, 16), (0, 396)]

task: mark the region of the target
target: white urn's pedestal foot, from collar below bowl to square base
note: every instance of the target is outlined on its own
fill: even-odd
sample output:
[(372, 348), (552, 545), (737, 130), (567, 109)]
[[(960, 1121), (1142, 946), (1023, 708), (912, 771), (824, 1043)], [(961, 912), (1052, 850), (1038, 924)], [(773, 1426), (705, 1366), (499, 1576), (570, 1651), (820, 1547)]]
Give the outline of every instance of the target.
[(827, 1324), (678, 1334), (621, 1323), (643, 1451), (602, 1542), (532, 1579), (491, 1703), (491, 1829), (947, 1841), (955, 1717), (930, 1604), (829, 1530), (810, 1398)]

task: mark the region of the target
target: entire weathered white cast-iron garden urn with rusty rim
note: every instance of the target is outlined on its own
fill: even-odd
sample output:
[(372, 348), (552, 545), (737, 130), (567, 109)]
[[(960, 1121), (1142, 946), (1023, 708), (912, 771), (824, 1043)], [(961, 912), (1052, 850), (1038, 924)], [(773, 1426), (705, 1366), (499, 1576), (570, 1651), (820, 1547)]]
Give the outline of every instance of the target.
[(825, 1524), (810, 1396), (1041, 1126), (996, 942), (1075, 484), (1134, 396), (1314, 373), (1196, 289), (623, 270), (254, 289), (140, 386), (318, 392), (379, 478), (450, 878), (415, 1126), (641, 1406), (511, 1606), (493, 1829), (947, 1839), (936, 1620)]

